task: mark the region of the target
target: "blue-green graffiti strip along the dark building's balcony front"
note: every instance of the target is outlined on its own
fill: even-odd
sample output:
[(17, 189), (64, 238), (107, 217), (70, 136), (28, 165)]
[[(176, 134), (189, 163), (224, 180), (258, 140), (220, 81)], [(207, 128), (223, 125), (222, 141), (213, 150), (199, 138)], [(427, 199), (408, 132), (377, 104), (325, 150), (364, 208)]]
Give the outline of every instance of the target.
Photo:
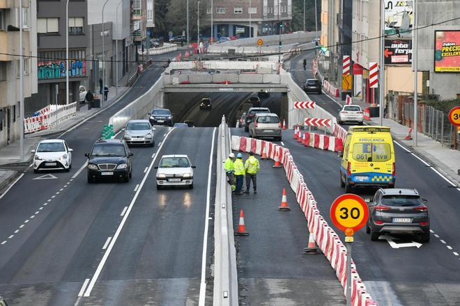
[[(69, 60), (69, 77), (86, 77), (86, 61)], [(38, 79), (59, 79), (66, 77), (66, 61), (38, 62)]]

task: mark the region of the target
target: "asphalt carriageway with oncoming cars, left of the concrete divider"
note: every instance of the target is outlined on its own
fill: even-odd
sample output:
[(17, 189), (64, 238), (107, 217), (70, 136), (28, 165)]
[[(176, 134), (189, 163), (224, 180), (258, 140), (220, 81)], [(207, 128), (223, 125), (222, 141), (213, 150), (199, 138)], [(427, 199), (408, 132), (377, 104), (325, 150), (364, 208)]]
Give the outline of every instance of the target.
[[(203, 244), (206, 202), (213, 202), (206, 193), (215, 179), (208, 181), (210, 158), (215, 160), (210, 156), (213, 129), (178, 129), (167, 136), (169, 128), (158, 127), (156, 147), (132, 148), (128, 184), (86, 183), (84, 153), (100, 136), (102, 124), (145, 92), (161, 71), (148, 68), (120, 102), (63, 134), (74, 149), (70, 172), (33, 174), (29, 168), (1, 199), (0, 292), (9, 305), (198, 300), (201, 277), (206, 279), (210, 265)], [(194, 189), (156, 191), (154, 152), (188, 154), (197, 165)]]

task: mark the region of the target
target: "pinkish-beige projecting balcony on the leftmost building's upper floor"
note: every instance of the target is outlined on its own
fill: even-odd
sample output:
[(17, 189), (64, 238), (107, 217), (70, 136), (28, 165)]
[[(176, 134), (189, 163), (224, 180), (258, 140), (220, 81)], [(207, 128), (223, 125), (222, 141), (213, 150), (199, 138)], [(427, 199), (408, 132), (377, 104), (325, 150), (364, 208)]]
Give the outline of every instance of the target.
[[(23, 54), (29, 54), (30, 52), (29, 41), (29, 31), (22, 31)], [(0, 31), (0, 61), (15, 61), (19, 59), (18, 56), (8, 54), (20, 54), (19, 31)]]

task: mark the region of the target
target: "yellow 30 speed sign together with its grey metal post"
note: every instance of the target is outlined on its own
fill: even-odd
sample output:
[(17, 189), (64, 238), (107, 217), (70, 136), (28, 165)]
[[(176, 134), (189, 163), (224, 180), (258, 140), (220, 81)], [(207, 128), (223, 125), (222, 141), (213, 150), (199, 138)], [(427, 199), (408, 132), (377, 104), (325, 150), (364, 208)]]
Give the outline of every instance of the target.
[(332, 223), (345, 232), (346, 246), (346, 305), (351, 306), (351, 243), (353, 234), (367, 223), (369, 211), (365, 200), (358, 195), (346, 193), (335, 199), (330, 207)]

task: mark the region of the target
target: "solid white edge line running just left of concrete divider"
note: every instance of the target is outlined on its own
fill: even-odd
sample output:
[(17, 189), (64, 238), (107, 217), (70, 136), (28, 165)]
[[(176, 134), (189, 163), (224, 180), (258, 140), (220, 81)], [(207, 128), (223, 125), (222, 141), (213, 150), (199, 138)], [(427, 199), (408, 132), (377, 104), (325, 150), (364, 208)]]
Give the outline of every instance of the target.
[(206, 216), (204, 219), (204, 235), (203, 235), (203, 255), (201, 255), (201, 284), (199, 285), (199, 299), (198, 305), (204, 306), (204, 299), (206, 297), (206, 251), (208, 250), (208, 227), (209, 227), (209, 206), (210, 206), (210, 184), (211, 174), (213, 170), (213, 154), (214, 154), (214, 140), (215, 130), (213, 130), (213, 141), (211, 141), (211, 150), (209, 154), (209, 169), (208, 169), (208, 187), (206, 189)]

